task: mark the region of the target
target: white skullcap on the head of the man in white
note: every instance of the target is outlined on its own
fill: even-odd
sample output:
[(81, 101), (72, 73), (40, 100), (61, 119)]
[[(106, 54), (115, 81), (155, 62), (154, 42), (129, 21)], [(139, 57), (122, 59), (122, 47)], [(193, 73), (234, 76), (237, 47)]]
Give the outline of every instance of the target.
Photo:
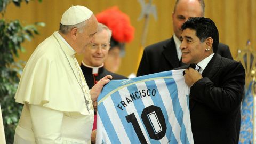
[(81, 5), (71, 6), (63, 13), (60, 23), (66, 26), (76, 25), (89, 19), (91, 16), (92, 11), (87, 7)]

